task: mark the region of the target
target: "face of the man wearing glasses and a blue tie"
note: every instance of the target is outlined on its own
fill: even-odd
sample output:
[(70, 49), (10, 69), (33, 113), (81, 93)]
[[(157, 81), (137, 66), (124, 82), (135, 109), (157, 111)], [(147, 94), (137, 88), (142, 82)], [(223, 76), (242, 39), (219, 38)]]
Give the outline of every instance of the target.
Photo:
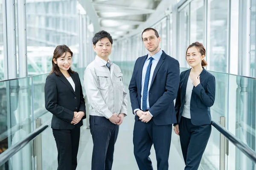
[(153, 30), (149, 30), (142, 34), (142, 40), (145, 48), (147, 48), (148, 51), (153, 52), (158, 48), (161, 39), (160, 37), (157, 38)]

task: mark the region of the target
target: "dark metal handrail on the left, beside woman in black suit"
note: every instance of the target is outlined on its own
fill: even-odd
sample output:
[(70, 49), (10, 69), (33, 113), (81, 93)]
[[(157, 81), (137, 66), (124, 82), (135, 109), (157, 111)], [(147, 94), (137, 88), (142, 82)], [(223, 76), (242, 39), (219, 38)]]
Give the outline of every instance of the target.
[(29, 133), (25, 139), (17, 142), (12, 147), (8, 148), (6, 151), (0, 154), (0, 166), (2, 166), (6, 161), (8, 161), (15, 153), (20, 151), (23, 147), (25, 147), (30, 141), (35, 139), (39, 134), (41, 134), (44, 130), (51, 126), (52, 119), (45, 122), (41, 127), (38, 127), (33, 132)]

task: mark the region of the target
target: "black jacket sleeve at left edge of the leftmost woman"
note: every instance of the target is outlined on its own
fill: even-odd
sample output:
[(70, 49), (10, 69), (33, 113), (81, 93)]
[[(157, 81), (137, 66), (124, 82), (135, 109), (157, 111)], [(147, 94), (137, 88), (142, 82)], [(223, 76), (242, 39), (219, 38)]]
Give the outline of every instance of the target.
[(71, 122), (74, 112), (57, 104), (58, 91), (57, 84), (54, 79), (49, 76), (46, 78), (44, 85), (45, 108), (59, 119)]

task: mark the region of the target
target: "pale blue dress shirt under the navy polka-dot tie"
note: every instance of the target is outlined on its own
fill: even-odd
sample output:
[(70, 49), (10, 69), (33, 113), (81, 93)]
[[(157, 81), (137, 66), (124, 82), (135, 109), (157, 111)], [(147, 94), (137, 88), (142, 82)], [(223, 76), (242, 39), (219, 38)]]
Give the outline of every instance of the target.
[[(163, 51), (160, 49), (160, 51), (158, 51), (156, 54), (154, 54), (152, 56), (153, 60), (152, 60), (152, 65), (151, 65), (151, 70), (150, 70), (150, 75), (149, 75), (149, 81), (148, 81), (148, 92), (151, 86), (151, 82), (152, 82), (152, 78), (153, 78), (153, 74), (154, 74), (154, 70), (157, 66), (157, 63), (161, 57), (161, 55), (163, 54)], [(148, 68), (148, 64), (150, 62), (150, 58), (151, 56), (148, 54), (147, 59), (145, 60), (145, 63), (143, 65), (143, 70), (142, 70), (142, 79), (141, 79), (141, 99), (140, 99), (140, 107), (141, 109), (137, 108), (134, 109), (134, 113), (138, 110), (142, 110), (142, 100), (143, 100), (143, 89), (144, 89), (144, 82), (145, 82), (145, 76), (146, 76), (146, 72), (147, 72), (147, 68)], [(147, 95), (147, 110), (149, 109), (149, 100), (148, 100), (148, 95)], [(151, 116), (153, 116), (150, 112), (149, 114)]]

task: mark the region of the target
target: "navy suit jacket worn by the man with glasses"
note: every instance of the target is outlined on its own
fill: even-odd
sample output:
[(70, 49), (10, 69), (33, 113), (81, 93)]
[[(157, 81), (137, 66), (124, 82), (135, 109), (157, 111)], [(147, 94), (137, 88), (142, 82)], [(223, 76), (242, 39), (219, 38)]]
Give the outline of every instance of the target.
[[(139, 57), (134, 65), (134, 71), (129, 85), (132, 110), (141, 108), (142, 70), (148, 55)], [(174, 99), (180, 82), (179, 62), (164, 51), (154, 70), (148, 93), (149, 112), (153, 115), (155, 125), (170, 125), (176, 123)], [(139, 120), (139, 116), (135, 116)]]

